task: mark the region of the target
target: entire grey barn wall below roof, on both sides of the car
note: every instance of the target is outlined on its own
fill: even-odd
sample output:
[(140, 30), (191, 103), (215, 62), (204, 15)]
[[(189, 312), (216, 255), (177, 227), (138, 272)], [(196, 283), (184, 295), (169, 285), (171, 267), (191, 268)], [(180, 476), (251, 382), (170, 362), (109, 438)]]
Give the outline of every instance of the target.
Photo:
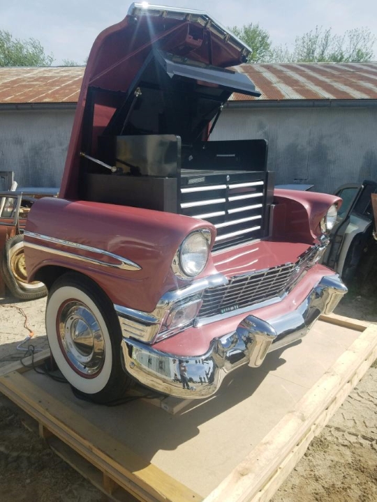
[[(59, 186), (74, 110), (0, 111), (0, 171), (20, 186)], [(376, 107), (226, 107), (211, 139), (265, 138), (276, 183), (315, 190), (377, 180)], [(1, 188), (1, 187), (0, 187)]]

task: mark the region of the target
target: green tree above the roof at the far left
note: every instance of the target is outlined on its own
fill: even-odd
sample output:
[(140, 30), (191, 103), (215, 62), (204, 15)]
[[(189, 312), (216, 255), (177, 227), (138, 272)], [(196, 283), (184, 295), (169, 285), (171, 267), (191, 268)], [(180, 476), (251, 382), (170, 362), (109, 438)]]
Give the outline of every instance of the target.
[(51, 66), (52, 54), (45, 54), (35, 38), (20, 40), (0, 30), (0, 66)]

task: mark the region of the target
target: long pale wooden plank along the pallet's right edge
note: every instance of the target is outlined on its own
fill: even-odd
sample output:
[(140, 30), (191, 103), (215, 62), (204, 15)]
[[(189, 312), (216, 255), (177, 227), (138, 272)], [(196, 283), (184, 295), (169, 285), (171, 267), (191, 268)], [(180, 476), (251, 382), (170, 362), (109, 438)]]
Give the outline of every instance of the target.
[(371, 325), (203, 502), (267, 502), (376, 358)]

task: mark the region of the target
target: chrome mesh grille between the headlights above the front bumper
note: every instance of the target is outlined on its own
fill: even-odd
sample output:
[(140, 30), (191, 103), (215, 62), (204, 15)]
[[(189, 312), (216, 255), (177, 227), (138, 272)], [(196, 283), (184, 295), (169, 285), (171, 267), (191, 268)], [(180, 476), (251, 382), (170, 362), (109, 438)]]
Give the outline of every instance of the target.
[(282, 296), (301, 277), (307, 264), (316, 257), (311, 248), (297, 263), (284, 264), (249, 275), (231, 277), (228, 284), (206, 289), (198, 317), (210, 317), (249, 307)]

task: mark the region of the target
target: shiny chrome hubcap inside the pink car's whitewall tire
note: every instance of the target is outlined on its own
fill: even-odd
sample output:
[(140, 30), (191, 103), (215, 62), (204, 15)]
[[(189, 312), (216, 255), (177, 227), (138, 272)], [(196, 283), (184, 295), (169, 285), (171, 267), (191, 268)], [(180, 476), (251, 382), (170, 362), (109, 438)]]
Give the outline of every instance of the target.
[(68, 300), (57, 315), (59, 345), (76, 373), (93, 378), (105, 360), (105, 340), (93, 312), (79, 301)]

